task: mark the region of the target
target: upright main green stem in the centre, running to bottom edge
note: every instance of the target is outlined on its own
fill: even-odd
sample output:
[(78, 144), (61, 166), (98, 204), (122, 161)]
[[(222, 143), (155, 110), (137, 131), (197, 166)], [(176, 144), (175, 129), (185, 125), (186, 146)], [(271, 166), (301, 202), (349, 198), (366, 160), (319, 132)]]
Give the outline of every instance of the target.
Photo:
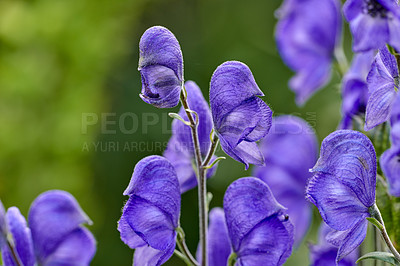
[(182, 88), (180, 100), (183, 108), (186, 111), (186, 115), (190, 122), (190, 129), (192, 132), (192, 140), (194, 145), (194, 157), (196, 161), (197, 171), (197, 183), (198, 183), (198, 200), (199, 200), (199, 236), (200, 236), (200, 247), (201, 247), (201, 265), (207, 266), (207, 224), (208, 224), (208, 212), (207, 212), (207, 184), (206, 184), (206, 169), (202, 167), (202, 157), (200, 151), (200, 142), (197, 132), (197, 126), (195, 119), (193, 118), (190, 107), (187, 102), (185, 95), (185, 88)]

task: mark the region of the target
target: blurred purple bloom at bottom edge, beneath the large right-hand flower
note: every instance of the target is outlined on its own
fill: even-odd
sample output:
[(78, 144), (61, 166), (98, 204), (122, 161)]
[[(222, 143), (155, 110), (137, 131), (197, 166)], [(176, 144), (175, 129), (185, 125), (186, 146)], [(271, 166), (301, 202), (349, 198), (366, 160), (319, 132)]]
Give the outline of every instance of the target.
[(344, 257), (336, 264), (338, 248), (326, 241), (329, 234), (335, 233), (326, 223), (322, 222), (318, 232), (318, 245), (310, 245), (311, 266), (353, 266), (359, 257), (358, 249)]

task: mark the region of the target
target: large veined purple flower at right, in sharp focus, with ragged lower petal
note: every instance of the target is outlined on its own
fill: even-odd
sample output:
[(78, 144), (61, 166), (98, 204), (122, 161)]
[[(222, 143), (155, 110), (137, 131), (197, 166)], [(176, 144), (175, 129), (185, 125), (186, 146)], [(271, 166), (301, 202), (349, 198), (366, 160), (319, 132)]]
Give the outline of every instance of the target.
[(311, 170), (306, 196), (331, 228), (328, 242), (339, 247), (340, 261), (364, 240), (375, 203), (376, 155), (371, 141), (352, 130), (338, 130), (321, 144), (320, 158)]

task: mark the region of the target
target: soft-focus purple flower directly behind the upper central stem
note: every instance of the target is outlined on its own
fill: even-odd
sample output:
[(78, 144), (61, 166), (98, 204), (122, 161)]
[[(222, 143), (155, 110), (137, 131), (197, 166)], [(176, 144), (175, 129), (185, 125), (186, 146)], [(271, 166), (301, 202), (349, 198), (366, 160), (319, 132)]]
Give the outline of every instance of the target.
[[(187, 101), (191, 110), (199, 116), (199, 125), (197, 127), (201, 154), (205, 156), (210, 148), (210, 133), (212, 130), (212, 118), (208, 103), (203, 97), (200, 88), (193, 81), (185, 83), (187, 91)], [(189, 121), (183, 107), (179, 115)], [(197, 186), (196, 173), (193, 168), (194, 150), (190, 127), (177, 119), (172, 122), (173, 135), (168, 142), (168, 147), (164, 152), (166, 157), (175, 167), (181, 188), (181, 193)], [(207, 171), (207, 178), (214, 175), (216, 165)]]

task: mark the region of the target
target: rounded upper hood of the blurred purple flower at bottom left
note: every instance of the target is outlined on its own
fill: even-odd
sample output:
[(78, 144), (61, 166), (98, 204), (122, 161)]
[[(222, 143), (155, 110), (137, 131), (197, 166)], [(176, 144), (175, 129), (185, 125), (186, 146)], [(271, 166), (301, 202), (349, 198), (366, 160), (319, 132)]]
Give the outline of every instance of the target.
[[(52, 190), (39, 195), (29, 210), (29, 226), (38, 262), (44, 263), (82, 223), (91, 221), (71, 194)], [(88, 256), (93, 255), (92, 249), (86, 251)]]

